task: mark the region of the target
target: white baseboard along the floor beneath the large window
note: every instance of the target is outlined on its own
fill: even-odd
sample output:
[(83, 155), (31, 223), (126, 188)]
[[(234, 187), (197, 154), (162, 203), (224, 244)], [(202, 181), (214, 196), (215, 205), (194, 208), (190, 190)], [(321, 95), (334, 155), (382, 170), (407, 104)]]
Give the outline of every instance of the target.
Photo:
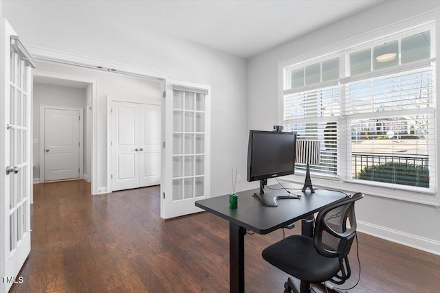
[(425, 237), (419, 237), (409, 233), (378, 226), (367, 222), (357, 221), (358, 231), (378, 238), (386, 239), (391, 242), (403, 244), (419, 250), (440, 255), (440, 242)]

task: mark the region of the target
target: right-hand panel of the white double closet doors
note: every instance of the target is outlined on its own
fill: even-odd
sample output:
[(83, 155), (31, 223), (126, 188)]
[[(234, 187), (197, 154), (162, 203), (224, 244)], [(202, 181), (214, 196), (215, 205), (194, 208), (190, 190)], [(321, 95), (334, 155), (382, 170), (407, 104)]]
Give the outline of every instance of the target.
[(140, 187), (160, 184), (159, 105), (139, 104), (139, 180)]

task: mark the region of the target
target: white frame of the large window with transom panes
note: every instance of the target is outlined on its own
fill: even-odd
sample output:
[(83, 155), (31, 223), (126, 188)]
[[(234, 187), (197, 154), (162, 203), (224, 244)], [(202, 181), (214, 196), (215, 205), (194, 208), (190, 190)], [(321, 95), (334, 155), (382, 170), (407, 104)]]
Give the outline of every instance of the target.
[[(401, 21), (399, 23), (394, 23), (392, 25), (388, 25), (386, 27), (382, 27), (378, 30), (375, 30), (373, 32), (369, 32), (366, 34), (363, 34), (362, 36), (358, 36), (355, 38), (351, 38), (349, 40), (337, 43), (335, 45), (331, 45), (316, 51), (312, 51), (308, 54), (303, 54), (302, 56), (298, 56), (296, 58), (292, 58), (289, 60), (285, 60), (283, 62), (278, 63), (278, 123), (283, 124), (284, 123), (284, 108), (283, 108), (283, 98), (285, 95), (289, 93), (304, 91), (304, 90), (312, 90), (312, 89), (320, 89), (325, 87), (322, 82), (317, 84), (311, 84), (310, 86), (303, 86), (303, 89), (288, 89), (288, 81), (290, 75), (289, 72), (295, 69), (298, 69), (300, 67), (305, 67), (307, 65), (314, 64), (316, 62), (322, 62), (325, 60), (329, 60), (334, 57), (340, 57), (340, 78), (338, 80), (339, 83), (341, 81), (344, 81), (344, 79), (348, 78), (355, 78), (358, 80), (358, 77), (361, 75), (353, 75), (351, 77), (350, 70), (349, 70), (349, 54), (353, 51), (358, 51), (363, 48), (373, 48), (376, 45), (381, 45), (384, 43), (387, 43), (392, 40), (399, 39), (399, 65), (396, 65), (394, 67), (389, 67), (386, 69), (378, 69), (377, 71), (370, 71), (371, 75), (376, 75), (375, 73), (379, 73), (378, 75), (384, 74), (386, 71), (395, 71), (395, 72), (401, 72), (404, 71), (405, 67), (410, 67), (413, 62), (408, 62), (404, 65), (401, 65), (401, 38), (406, 36), (411, 36), (413, 34), (418, 34), (420, 32), (426, 32), (430, 31), (430, 39), (431, 39), (431, 54), (430, 54), (430, 60), (431, 64), (433, 64), (433, 109), (432, 109), (432, 115), (434, 115), (434, 126), (437, 126), (439, 124), (439, 88), (437, 87), (437, 84), (439, 84), (439, 62), (436, 62), (436, 58), (439, 54), (440, 45), (437, 40), (437, 32), (439, 30), (439, 16), (437, 15), (438, 10), (427, 12), (425, 14), (421, 14), (417, 17), (414, 17), (412, 19), (407, 19), (404, 21)], [(402, 27), (408, 27), (408, 29), (402, 30)], [(373, 54), (373, 53), (372, 53)], [(373, 60), (372, 60), (373, 62)], [(415, 61), (414, 63), (417, 63), (419, 61)], [(401, 70), (399, 70), (401, 69)], [(382, 74), (380, 74), (382, 73)], [(342, 88), (342, 86), (341, 86)], [(342, 90), (341, 90), (342, 91)], [(375, 181), (367, 181), (367, 180), (359, 180), (359, 179), (352, 179), (351, 174), (348, 173), (348, 166), (351, 165), (351, 158), (347, 159), (348, 157), (351, 157), (351, 148), (349, 147), (351, 143), (351, 139), (349, 137), (349, 130), (347, 129), (346, 124), (348, 123), (349, 119), (347, 118), (347, 115), (344, 115), (346, 113), (344, 109), (345, 105), (345, 95), (341, 93), (340, 95), (340, 111), (341, 115), (339, 118), (340, 123), (340, 131), (346, 132), (346, 135), (341, 136), (340, 143), (341, 145), (344, 145), (347, 150), (350, 150), (350, 153), (347, 154), (347, 156), (341, 158), (338, 160), (338, 169), (340, 170), (339, 174), (340, 177), (336, 176), (334, 178), (327, 176), (321, 176), (314, 174), (314, 183), (317, 185), (323, 185), (330, 188), (338, 188), (338, 189), (348, 189), (348, 190), (357, 190), (359, 188), (362, 188), (362, 186), (369, 186), (369, 194), (372, 194), (374, 196), (382, 196), (386, 198), (395, 198), (397, 200), (406, 200), (410, 202), (419, 202), (422, 204), (429, 204), (434, 206), (440, 205), (440, 199), (438, 196), (438, 187), (439, 187), (439, 163), (440, 163), (440, 155), (435, 152), (435, 150), (430, 149), (429, 155), (430, 155), (430, 161), (432, 159), (432, 154), (434, 154), (435, 159), (433, 163), (430, 164), (430, 174), (431, 174), (431, 166), (434, 168), (434, 186), (430, 186), (429, 188), (424, 187), (413, 187), (413, 186), (406, 186), (406, 185), (393, 185), (390, 183), (380, 183)], [(436, 129), (433, 132), (434, 136), (434, 148), (436, 148), (437, 145), (439, 145), (439, 133), (440, 133), (440, 127), (436, 127)], [(350, 156), (349, 156), (350, 155)], [(284, 178), (285, 180), (290, 180), (298, 183), (302, 183), (304, 178), (303, 175), (300, 174), (287, 176), (288, 178)], [(364, 182), (366, 181), (366, 182)], [(395, 192), (395, 189), (399, 190), (399, 193)], [(416, 194), (417, 193), (417, 194)], [(396, 194), (399, 194), (396, 196)]]

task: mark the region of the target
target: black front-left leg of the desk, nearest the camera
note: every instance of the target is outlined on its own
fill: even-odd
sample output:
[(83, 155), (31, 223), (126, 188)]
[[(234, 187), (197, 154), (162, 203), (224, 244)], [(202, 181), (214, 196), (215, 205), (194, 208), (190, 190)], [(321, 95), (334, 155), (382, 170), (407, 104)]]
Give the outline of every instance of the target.
[(229, 222), (230, 292), (245, 292), (245, 234), (246, 229)]

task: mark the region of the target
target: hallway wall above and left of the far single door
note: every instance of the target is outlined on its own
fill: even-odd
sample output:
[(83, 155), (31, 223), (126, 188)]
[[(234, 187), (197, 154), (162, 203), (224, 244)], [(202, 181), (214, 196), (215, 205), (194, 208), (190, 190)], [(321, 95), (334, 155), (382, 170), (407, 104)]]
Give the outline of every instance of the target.
[[(34, 155), (34, 178), (40, 178), (40, 105), (64, 106), (83, 108), (86, 107), (85, 89), (78, 89), (68, 86), (55, 86), (52, 84), (35, 84), (33, 99), (33, 139), (38, 141), (33, 143), (32, 153)], [(44, 119), (44, 117), (43, 117)]]

